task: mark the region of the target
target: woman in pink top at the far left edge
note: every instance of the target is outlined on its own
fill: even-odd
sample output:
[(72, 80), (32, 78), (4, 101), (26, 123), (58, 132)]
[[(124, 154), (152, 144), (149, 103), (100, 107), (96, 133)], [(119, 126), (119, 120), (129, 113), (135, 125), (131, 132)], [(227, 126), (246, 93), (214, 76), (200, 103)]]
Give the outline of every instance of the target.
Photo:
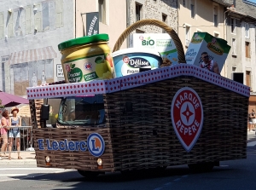
[[(1, 152), (4, 153), (8, 145), (9, 112), (7, 109), (3, 110), (2, 116), (3, 118), (1, 118), (1, 136), (3, 138), (3, 145), (1, 148)], [(0, 156), (0, 159), (3, 159), (2, 155)]]

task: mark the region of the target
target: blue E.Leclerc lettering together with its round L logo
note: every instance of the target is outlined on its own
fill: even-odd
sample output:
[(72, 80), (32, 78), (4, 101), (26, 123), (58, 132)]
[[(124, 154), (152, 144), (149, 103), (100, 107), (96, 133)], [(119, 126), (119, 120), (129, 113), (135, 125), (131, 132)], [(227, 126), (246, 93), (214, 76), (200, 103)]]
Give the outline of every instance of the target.
[(105, 141), (102, 135), (97, 133), (92, 133), (88, 136), (87, 141), (49, 141), (45, 139), (46, 145), (44, 144), (44, 139), (38, 139), (38, 148), (40, 151), (82, 151), (85, 152), (87, 149), (89, 152), (95, 156), (99, 157), (104, 153)]

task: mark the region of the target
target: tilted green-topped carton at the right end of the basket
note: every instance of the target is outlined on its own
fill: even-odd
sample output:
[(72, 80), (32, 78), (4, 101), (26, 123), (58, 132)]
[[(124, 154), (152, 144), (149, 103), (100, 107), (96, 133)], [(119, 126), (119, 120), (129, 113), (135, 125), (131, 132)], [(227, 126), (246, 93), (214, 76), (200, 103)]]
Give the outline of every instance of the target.
[(219, 74), (229, 52), (230, 46), (224, 39), (207, 32), (195, 32), (186, 52), (186, 61)]

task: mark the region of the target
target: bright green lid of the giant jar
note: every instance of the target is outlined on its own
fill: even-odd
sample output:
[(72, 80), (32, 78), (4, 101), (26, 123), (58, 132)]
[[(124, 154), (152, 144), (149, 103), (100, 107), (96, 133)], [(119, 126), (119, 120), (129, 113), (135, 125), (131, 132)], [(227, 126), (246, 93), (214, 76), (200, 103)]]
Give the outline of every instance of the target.
[(73, 46), (77, 45), (84, 45), (86, 43), (97, 43), (97, 42), (104, 42), (108, 41), (109, 37), (108, 34), (102, 33), (102, 34), (95, 34), (90, 37), (78, 37), (71, 40), (67, 40), (63, 43), (60, 43), (58, 45), (59, 50), (71, 48)]

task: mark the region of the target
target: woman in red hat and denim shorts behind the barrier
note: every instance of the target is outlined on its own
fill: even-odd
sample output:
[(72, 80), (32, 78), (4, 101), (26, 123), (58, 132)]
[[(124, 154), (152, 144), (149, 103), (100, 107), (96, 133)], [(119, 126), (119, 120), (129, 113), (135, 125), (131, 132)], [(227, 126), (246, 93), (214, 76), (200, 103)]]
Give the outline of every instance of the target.
[(14, 127), (9, 130), (9, 159), (11, 159), (11, 151), (13, 148), (14, 139), (16, 141), (16, 147), (18, 151), (18, 159), (22, 159), (20, 157), (20, 129), (21, 126), (21, 119), (19, 116), (17, 116), (17, 113), (19, 112), (18, 107), (13, 107), (11, 110), (11, 113), (13, 114), (12, 117), (9, 118), (9, 124)]

